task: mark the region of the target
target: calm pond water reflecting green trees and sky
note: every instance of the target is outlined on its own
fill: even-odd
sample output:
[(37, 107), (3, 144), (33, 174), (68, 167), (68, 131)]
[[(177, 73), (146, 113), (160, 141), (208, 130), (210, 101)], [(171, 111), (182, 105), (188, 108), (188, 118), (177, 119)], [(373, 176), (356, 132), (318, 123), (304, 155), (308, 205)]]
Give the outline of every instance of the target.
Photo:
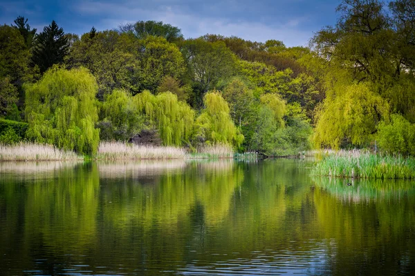
[(1, 163), (0, 274), (415, 273), (415, 184), (311, 165)]

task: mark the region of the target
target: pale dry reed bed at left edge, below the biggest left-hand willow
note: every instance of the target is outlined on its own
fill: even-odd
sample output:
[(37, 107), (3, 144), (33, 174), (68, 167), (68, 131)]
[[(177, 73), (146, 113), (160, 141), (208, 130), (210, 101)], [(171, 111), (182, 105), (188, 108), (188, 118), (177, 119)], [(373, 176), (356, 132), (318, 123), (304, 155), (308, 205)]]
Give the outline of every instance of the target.
[(82, 160), (73, 151), (59, 150), (55, 146), (21, 142), (15, 145), (0, 144), (0, 161), (66, 161)]

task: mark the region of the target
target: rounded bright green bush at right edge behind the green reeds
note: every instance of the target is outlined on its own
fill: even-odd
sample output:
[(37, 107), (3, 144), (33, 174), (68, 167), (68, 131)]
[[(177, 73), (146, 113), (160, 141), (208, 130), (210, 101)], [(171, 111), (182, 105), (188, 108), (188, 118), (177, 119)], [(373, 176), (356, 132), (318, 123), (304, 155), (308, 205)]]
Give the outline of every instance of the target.
[(415, 155), (415, 126), (402, 115), (391, 115), (389, 124), (381, 121), (376, 135), (379, 148), (389, 153)]

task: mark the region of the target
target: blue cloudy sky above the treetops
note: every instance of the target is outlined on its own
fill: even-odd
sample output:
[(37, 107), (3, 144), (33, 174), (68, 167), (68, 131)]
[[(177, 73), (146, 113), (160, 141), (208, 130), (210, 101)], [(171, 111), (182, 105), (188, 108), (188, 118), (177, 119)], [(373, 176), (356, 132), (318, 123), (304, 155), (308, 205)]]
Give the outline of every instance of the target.
[(276, 39), (286, 46), (307, 46), (324, 26), (334, 25), (340, 0), (0, 0), (0, 23), (17, 16), (37, 31), (55, 20), (64, 32), (83, 34), (115, 29), (136, 21), (163, 21), (183, 36), (237, 36), (250, 41)]

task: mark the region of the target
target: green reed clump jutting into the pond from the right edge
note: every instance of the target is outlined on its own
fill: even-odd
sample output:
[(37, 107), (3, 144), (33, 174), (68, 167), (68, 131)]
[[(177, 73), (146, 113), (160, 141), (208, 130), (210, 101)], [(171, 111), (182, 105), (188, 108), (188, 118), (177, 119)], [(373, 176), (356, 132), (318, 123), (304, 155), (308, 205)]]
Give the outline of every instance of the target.
[(340, 150), (323, 157), (311, 175), (362, 179), (415, 179), (415, 158)]

